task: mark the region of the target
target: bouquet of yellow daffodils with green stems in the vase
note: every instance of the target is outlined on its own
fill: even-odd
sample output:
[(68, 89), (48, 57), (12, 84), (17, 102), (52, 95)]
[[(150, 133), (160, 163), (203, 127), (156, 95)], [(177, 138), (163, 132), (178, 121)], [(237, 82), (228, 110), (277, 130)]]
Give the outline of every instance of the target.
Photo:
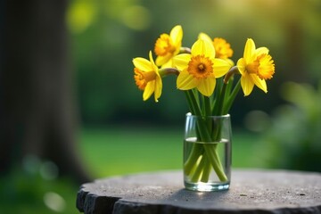
[[(191, 114), (201, 118), (196, 128), (197, 141), (216, 142), (219, 128), (206, 118), (228, 114), (241, 88), (245, 96), (251, 94), (254, 86), (267, 93), (266, 80), (273, 77), (275, 64), (268, 48), (256, 48), (251, 38), (247, 39), (243, 57), (236, 65), (230, 59), (233, 50), (223, 38), (211, 39), (200, 33), (191, 48), (182, 46), (182, 39), (183, 29), (177, 25), (169, 34), (163, 33), (156, 40), (155, 61), (152, 51), (149, 59), (137, 57), (133, 60), (136, 86), (144, 91), (144, 101), (153, 94), (155, 102), (158, 102), (162, 78), (169, 75), (177, 77), (177, 88), (185, 92)], [(210, 170), (214, 169), (218, 179), (226, 182), (228, 177), (216, 147), (216, 144), (194, 146), (185, 160), (185, 176), (193, 182), (206, 183)]]

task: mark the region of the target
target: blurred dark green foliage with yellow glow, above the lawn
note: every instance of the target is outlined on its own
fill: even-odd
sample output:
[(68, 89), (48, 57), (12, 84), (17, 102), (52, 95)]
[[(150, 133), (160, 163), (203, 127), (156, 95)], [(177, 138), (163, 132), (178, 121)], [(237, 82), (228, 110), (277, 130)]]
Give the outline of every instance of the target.
[(132, 59), (147, 58), (157, 37), (176, 24), (190, 46), (200, 31), (225, 37), (243, 56), (246, 38), (266, 45), (276, 62), (268, 95), (240, 95), (231, 110), (234, 122), (251, 110), (271, 111), (282, 99), (284, 81), (314, 83), (320, 78), (321, 2), (317, 0), (73, 0), (67, 14), (79, 115), (84, 124), (153, 122), (182, 124), (188, 111), (175, 79), (164, 79), (159, 103), (143, 102), (133, 80)]

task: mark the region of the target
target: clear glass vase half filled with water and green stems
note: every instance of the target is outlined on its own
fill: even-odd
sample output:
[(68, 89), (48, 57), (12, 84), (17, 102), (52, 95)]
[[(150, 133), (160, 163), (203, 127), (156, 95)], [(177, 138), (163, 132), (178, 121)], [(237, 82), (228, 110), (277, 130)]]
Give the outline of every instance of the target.
[(231, 178), (232, 130), (230, 115), (186, 114), (184, 184), (195, 191), (226, 190)]

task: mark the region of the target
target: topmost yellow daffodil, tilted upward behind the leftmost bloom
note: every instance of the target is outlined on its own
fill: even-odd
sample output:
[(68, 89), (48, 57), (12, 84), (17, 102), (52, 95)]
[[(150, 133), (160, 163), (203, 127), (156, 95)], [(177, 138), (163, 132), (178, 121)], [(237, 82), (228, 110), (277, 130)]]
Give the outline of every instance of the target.
[(175, 55), (179, 53), (182, 46), (183, 29), (177, 25), (170, 30), (169, 34), (161, 34), (156, 40), (154, 52), (157, 55), (156, 64), (158, 66), (169, 62)]

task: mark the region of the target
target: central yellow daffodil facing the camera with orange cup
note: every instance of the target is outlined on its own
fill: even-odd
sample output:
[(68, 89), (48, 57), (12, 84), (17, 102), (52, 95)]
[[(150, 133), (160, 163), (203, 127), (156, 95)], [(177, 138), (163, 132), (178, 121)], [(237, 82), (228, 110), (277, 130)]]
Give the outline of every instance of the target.
[(231, 65), (215, 58), (214, 46), (204, 39), (198, 39), (191, 54), (182, 53), (173, 58), (173, 64), (181, 70), (177, 77), (177, 88), (189, 90), (196, 87), (202, 95), (210, 96), (216, 86), (216, 78), (226, 74)]

